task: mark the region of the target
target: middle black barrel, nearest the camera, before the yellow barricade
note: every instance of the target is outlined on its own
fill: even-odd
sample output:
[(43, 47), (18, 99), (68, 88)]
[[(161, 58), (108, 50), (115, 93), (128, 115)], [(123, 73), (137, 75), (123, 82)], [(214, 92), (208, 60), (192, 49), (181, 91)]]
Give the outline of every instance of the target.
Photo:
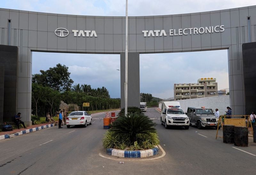
[(238, 147), (248, 147), (248, 127), (235, 126), (234, 145)]

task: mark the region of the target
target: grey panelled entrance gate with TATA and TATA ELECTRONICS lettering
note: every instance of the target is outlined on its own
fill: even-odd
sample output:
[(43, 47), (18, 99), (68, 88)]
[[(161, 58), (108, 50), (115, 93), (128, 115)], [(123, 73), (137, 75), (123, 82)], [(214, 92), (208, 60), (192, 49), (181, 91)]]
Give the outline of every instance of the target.
[[(256, 6), (128, 20), (128, 106), (140, 105), (140, 53), (227, 49), (232, 115), (245, 113), (242, 44), (256, 41)], [(19, 48), (17, 112), (27, 125), (32, 51), (120, 54), (124, 107), (125, 17), (0, 9), (0, 44)]]

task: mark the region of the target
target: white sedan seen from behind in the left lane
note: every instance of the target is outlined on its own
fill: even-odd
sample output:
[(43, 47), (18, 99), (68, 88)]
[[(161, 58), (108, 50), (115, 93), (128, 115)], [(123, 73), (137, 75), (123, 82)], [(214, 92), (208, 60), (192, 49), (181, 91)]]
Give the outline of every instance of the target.
[(71, 112), (66, 121), (67, 128), (70, 128), (71, 125), (82, 125), (86, 127), (88, 123), (92, 125), (92, 117), (86, 111)]

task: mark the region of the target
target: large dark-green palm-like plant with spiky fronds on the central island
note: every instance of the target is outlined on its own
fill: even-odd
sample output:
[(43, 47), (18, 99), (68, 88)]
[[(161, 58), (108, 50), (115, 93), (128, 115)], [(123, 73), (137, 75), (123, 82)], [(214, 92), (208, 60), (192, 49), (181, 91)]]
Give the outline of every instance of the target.
[(114, 134), (128, 135), (131, 144), (137, 141), (137, 134), (156, 133), (156, 124), (143, 113), (128, 113), (122, 115), (111, 125), (110, 131)]

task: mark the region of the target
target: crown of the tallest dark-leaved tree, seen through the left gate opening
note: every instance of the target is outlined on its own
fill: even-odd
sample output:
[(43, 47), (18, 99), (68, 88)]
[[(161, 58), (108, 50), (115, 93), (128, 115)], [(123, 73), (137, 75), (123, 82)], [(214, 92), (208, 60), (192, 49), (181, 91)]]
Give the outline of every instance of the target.
[(57, 64), (48, 70), (40, 70), (40, 74), (32, 75), (32, 82), (38, 83), (54, 90), (69, 90), (74, 81), (70, 79), (70, 72), (66, 65)]

